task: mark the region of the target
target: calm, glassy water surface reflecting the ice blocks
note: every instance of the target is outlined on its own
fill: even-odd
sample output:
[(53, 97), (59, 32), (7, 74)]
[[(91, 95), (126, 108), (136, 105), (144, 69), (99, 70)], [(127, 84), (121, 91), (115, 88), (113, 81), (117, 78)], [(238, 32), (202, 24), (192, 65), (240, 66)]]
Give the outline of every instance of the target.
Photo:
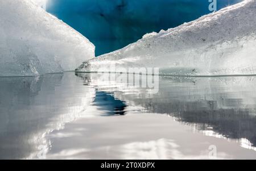
[(256, 159), (256, 77), (0, 78), (0, 159)]

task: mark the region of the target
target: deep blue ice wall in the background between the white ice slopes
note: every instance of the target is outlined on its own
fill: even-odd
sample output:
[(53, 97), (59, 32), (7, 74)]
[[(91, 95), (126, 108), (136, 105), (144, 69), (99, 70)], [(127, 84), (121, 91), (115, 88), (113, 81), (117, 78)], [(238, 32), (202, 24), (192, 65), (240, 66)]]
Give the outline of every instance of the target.
[[(241, 0), (217, 0), (217, 10)], [(208, 14), (209, 0), (48, 0), (46, 10), (96, 45), (101, 55), (152, 31)]]

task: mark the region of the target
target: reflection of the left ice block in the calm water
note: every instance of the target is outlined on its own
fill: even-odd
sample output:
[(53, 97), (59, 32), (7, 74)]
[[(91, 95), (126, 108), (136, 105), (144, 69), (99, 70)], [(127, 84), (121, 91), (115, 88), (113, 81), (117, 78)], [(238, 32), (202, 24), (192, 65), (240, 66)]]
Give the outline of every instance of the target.
[(77, 81), (73, 73), (0, 78), (1, 159), (44, 157), (47, 134), (80, 118), (94, 98)]

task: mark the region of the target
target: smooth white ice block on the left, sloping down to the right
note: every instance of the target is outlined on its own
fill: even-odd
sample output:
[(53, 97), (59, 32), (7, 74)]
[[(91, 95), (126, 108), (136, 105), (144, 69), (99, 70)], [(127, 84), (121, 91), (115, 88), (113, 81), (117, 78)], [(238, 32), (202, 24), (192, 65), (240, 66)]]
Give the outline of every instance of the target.
[(30, 0), (0, 0), (0, 76), (74, 70), (94, 45)]

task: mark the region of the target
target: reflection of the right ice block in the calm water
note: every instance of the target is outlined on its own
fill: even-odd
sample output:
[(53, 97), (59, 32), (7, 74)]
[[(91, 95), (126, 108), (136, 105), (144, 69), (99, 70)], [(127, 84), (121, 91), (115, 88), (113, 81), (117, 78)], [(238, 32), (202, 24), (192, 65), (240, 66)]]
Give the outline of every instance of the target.
[[(80, 74), (84, 77), (84, 74)], [(92, 83), (98, 76), (91, 76)], [(256, 147), (256, 77), (176, 78), (161, 77), (159, 93), (134, 92), (134, 87), (105, 82), (105, 91), (128, 105), (142, 106), (148, 112), (168, 114), (177, 121), (195, 126), (204, 135), (238, 139), (243, 148)], [(116, 88), (118, 87), (118, 88)], [(129, 93), (129, 91), (131, 93)], [(255, 144), (255, 145), (254, 145)]]

